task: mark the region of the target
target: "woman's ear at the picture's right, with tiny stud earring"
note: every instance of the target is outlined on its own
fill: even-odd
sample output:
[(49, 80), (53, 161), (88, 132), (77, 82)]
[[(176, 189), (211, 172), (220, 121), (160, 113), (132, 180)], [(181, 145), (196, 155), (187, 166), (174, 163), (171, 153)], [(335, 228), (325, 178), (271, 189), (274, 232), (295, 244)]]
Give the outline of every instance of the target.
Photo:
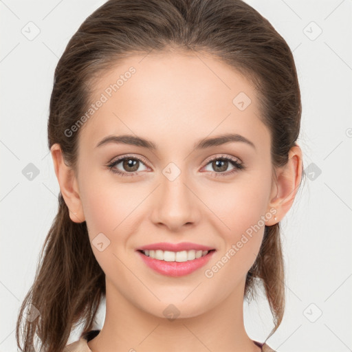
[(274, 215), (276, 220), (272, 217), (265, 222), (265, 225), (271, 226), (278, 223), (292, 207), (302, 179), (302, 170), (302, 151), (300, 146), (296, 144), (289, 150), (287, 164), (276, 168), (276, 179), (273, 181), (270, 203), (267, 209), (267, 211), (272, 209), (271, 212), (273, 212), (273, 208), (276, 209)]

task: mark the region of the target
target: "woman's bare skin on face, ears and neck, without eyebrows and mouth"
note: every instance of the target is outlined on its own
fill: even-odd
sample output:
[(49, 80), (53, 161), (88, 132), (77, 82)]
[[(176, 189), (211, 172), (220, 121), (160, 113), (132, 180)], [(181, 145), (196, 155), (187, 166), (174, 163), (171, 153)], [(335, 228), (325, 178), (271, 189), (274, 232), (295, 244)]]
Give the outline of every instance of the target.
[[(302, 175), (300, 147), (289, 151), (287, 165), (273, 175), (270, 131), (259, 118), (257, 91), (232, 67), (204, 54), (130, 56), (100, 77), (92, 102), (131, 66), (136, 73), (81, 127), (77, 169), (65, 165), (58, 144), (51, 148), (72, 221), (87, 221), (90, 241), (100, 232), (110, 241), (102, 252), (92, 244), (106, 275), (107, 311), (88, 346), (93, 352), (260, 351), (245, 331), (243, 292), (264, 225), (212, 278), (204, 272), (270, 209), (277, 219), (267, 216), (265, 225), (283, 219)], [(243, 111), (232, 103), (241, 91), (252, 100)], [(244, 142), (193, 148), (229, 131), (255, 148)], [(107, 135), (122, 134), (151, 140), (157, 150), (96, 147)], [(127, 154), (147, 161), (135, 175), (122, 177), (106, 167)], [(212, 156), (237, 158), (245, 169), (230, 175), (235, 166), (229, 162), (221, 169), (209, 162)], [(173, 181), (163, 174), (170, 162), (181, 172)], [(131, 173), (122, 162), (115, 168)], [(163, 241), (201, 243), (217, 252), (205, 267), (173, 278), (151, 270), (135, 252)], [(170, 304), (179, 311), (172, 321), (163, 313)]]

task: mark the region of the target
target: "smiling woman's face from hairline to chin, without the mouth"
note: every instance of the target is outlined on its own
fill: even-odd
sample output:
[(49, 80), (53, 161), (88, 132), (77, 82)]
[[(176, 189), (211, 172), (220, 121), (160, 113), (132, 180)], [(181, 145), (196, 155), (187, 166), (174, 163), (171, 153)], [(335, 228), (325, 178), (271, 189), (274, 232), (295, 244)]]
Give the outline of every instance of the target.
[[(188, 318), (243, 296), (274, 217), (270, 131), (256, 90), (225, 63), (197, 55), (131, 56), (111, 67), (94, 85), (91, 101), (102, 103), (79, 131), (77, 184), (107, 292), (162, 318), (169, 304)], [(228, 134), (240, 137), (216, 140)], [(135, 143), (102, 143), (122, 135)], [(154, 270), (138, 251), (184, 242), (212, 249), (192, 272), (170, 271), (186, 265), (167, 261), (168, 274)]]

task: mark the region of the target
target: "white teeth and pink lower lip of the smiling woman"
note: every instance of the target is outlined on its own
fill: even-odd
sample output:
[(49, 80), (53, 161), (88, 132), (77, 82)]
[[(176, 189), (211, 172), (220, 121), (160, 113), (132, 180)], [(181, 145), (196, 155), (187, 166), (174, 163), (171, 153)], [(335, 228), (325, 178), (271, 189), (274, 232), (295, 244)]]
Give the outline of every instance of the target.
[(137, 254), (149, 268), (164, 276), (186, 276), (206, 265), (216, 250), (137, 250)]

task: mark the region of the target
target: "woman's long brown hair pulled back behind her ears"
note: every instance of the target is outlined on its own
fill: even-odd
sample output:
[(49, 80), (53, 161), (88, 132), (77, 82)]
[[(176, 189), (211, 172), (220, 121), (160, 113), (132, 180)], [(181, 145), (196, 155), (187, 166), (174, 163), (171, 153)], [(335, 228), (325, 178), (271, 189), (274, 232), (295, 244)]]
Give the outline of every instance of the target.
[[(254, 85), (260, 118), (270, 130), (273, 170), (285, 166), (300, 132), (294, 58), (270, 22), (241, 0), (109, 0), (100, 6), (80, 25), (56, 66), (47, 122), (49, 149), (60, 144), (65, 163), (76, 170), (79, 131), (69, 136), (65, 131), (87, 111), (95, 80), (133, 54), (175, 49), (218, 58)], [(259, 283), (273, 316), (269, 338), (285, 310), (279, 223), (265, 225), (259, 254), (246, 277), (245, 298), (254, 296)], [(91, 250), (87, 225), (70, 219), (59, 192), (58, 213), (19, 309), (18, 347), (34, 351), (37, 336), (46, 352), (63, 351), (78, 323), (83, 323), (83, 332), (94, 327), (105, 294), (105, 275)], [(39, 316), (24, 319), (26, 308), (38, 309)]]

